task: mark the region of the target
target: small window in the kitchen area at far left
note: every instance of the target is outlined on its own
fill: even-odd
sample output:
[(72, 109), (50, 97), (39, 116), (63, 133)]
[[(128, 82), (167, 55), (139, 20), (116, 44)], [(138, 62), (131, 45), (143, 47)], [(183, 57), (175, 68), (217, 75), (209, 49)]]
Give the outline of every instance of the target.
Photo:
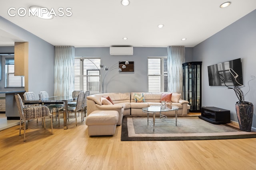
[(6, 87), (24, 87), (24, 76), (14, 76), (14, 58), (5, 59)]

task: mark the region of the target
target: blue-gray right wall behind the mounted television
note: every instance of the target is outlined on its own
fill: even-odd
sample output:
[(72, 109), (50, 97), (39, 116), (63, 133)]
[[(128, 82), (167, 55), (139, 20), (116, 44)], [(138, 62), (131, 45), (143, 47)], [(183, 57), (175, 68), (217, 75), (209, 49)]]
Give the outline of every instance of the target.
[[(241, 58), (244, 93), (249, 89), (250, 76), (256, 76), (256, 10), (232, 23), (194, 47), (194, 61), (202, 61), (202, 106), (228, 109), (231, 120), (237, 121), (235, 104), (238, 101), (233, 90), (225, 86), (209, 86), (207, 66)], [(246, 101), (256, 106), (256, 80), (250, 82), (250, 92)], [(256, 127), (256, 109), (252, 126)]]

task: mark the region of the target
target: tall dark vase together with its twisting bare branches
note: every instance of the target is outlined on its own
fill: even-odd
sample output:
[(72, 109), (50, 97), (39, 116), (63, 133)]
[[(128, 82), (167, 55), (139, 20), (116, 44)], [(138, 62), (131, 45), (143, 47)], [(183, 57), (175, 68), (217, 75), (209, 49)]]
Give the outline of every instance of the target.
[(232, 88), (226, 85), (225, 78), (222, 78), (222, 81), (224, 82), (225, 86), (228, 87), (228, 89), (233, 89), (235, 91), (236, 97), (239, 100), (239, 102), (236, 102), (236, 115), (237, 115), (240, 130), (250, 132), (252, 128), (252, 116), (253, 116), (254, 106), (252, 103), (244, 101), (244, 98), (246, 94), (248, 94), (248, 92), (250, 91), (249, 82), (251, 80), (254, 80), (255, 76), (251, 76), (252, 79), (248, 81), (249, 90), (244, 95), (244, 92), (242, 90), (244, 85), (240, 84), (236, 80), (238, 78), (238, 74), (236, 74), (236, 72), (234, 72), (232, 68), (229, 68), (229, 72), (233, 76), (232, 80), (235, 81), (236, 85)]

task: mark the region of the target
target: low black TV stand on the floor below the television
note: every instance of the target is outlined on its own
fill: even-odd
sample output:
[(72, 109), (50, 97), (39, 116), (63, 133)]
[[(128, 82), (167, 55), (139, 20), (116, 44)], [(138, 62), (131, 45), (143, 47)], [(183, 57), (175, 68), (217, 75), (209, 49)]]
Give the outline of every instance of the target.
[(230, 111), (218, 107), (201, 107), (198, 117), (213, 124), (230, 123)]

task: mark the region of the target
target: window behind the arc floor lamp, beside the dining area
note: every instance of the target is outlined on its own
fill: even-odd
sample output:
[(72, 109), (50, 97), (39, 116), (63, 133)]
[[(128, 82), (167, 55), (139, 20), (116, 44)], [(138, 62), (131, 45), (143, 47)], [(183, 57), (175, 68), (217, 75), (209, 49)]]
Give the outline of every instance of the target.
[(75, 58), (75, 90), (100, 92), (100, 59)]

